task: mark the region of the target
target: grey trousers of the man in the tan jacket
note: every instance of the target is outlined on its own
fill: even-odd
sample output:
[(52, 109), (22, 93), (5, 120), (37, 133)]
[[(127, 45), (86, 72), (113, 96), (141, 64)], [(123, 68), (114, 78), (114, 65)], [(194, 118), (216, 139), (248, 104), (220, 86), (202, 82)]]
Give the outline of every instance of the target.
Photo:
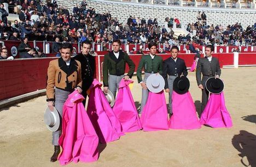
[[(62, 122), (62, 110), (63, 110), (63, 104), (66, 102), (68, 98), (68, 94), (70, 92), (68, 91), (63, 91), (58, 88), (55, 88), (55, 108), (59, 112), (59, 115), (61, 117), (60, 121)], [(59, 138), (61, 136), (61, 124), (59, 130), (56, 132), (53, 132), (53, 145), (54, 146), (59, 146)]]

